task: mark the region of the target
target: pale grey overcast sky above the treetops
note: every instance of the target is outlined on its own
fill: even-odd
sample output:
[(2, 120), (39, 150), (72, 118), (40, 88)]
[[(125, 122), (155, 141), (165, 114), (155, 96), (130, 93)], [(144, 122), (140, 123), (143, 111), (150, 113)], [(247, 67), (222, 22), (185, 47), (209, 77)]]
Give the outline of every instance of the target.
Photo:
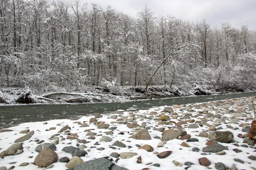
[[(211, 27), (231, 23), (233, 27), (248, 26), (256, 30), (256, 0), (81, 0), (96, 3), (102, 8), (110, 5), (132, 17), (137, 17), (145, 5), (155, 16), (170, 14), (182, 20), (196, 23), (206, 19)], [(89, 4), (90, 5), (90, 4)]]

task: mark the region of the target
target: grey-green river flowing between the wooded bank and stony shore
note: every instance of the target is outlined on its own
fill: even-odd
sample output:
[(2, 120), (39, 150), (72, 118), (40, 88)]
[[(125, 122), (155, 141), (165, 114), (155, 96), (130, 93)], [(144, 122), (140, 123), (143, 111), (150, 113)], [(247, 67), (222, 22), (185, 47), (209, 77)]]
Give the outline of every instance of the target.
[[(196, 102), (209, 102), (214, 100), (232, 99), (256, 96), (253, 93), (222, 94), (211, 96), (189, 96), (169, 99), (156, 99), (130, 102), (92, 103), (92, 104), (57, 104), (57, 105), (3, 105), (0, 106), (0, 129), (9, 127), (8, 124), (18, 125), (24, 122), (39, 122), (51, 119), (80, 118), (95, 112), (110, 113), (119, 109), (126, 110), (148, 109), (154, 106), (184, 105)], [(6, 125), (4, 125), (6, 124)]]

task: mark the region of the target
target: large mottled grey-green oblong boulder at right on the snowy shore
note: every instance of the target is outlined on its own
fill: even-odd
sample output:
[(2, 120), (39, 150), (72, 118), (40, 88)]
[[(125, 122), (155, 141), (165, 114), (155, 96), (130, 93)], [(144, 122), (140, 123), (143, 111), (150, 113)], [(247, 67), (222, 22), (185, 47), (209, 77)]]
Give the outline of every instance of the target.
[(215, 132), (210, 133), (208, 138), (210, 140), (227, 143), (227, 142), (231, 141), (234, 138), (234, 136), (233, 136), (233, 133), (231, 133), (230, 131), (224, 131), (224, 132), (215, 131)]

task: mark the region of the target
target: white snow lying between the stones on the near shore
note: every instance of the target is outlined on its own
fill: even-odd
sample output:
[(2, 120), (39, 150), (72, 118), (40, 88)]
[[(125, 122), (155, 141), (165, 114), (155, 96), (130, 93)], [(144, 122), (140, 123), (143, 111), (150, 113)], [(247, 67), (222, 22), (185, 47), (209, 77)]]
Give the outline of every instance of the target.
[[(250, 101), (249, 98), (243, 98), (242, 100), (248, 99), (247, 101)], [(236, 101), (234, 101), (236, 102)], [(237, 102), (237, 104), (239, 104), (239, 101)], [(197, 105), (200, 105), (200, 103), (197, 103)], [(246, 105), (249, 105), (249, 103), (246, 103)], [(208, 138), (203, 138), (203, 137), (199, 137), (198, 134), (203, 131), (203, 130), (208, 130), (208, 127), (203, 126), (203, 127), (198, 127), (197, 129), (189, 129), (186, 128), (186, 132), (188, 134), (190, 134), (192, 137), (191, 138), (197, 138), (199, 140), (199, 142), (187, 142), (191, 147), (182, 147), (181, 143), (185, 142), (186, 140), (179, 140), (179, 139), (173, 139), (170, 141), (167, 141), (166, 144), (163, 147), (157, 147), (157, 144), (160, 143), (160, 139), (155, 139), (155, 136), (162, 136), (162, 132), (157, 131), (157, 130), (152, 130), (152, 127), (155, 127), (156, 125), (158, 125), (158, 122), (156, 120), (149, 120), (149, 119), (137, 119), (136, 122), (141, 125), (143, 122), (146, 122), (146, 127), (148, 126), (152, 126), (149, 131), (149, 134), (151, 136), (151, 140), (136, 140), (136, 139), (129, 139), (129, 137), (131, 136), (130, 134), (132, 133), (133, 129), (129, 129), (127, 127), (127, 125), (123, 125), (123, 124), (118, 124), (116, 121), (116, 119), (112, 119), (111, 115), (115, 114), (117, 116), (117, 118), (121, 118), (123, 116), (131, 116), (132, 114), (134, 114), (135, 116), (138, 115), (145, 115), (145, 116), (150, 116), (150, 113), (152, 111), (157, 112), (158, 114), (161, 113), (161, 111), (163, 111), (163, 108), (165, 106), (161, 106), (161, 107), (154, 107), (154, 108), (150, 108), (148, 110), (139, 110), (136, 111), (134, 109), (130, 109), (128, 111), (124, 111), (122, 116), (120, 116), (118, 113), (112, 113), (112, 114), (104, 114), (102, 118), (97, 119), (99, 122), (105, 122), (107, 124), (110, 124), (110, 127), (114, 127), (116, 126), (117, 129), (113, 131), (113, 135), (106, 135), (104, 132), (108, 132), (110, 131), (109, 129), (98, 129), (96, 127), (96, 125), (94, 125), (93, 123), (89, 123), (90, 118), (94, 117), (93, 115), (91, 116), (84, 116), (81, 117), (78, 120), (70, 120), (70, 119), (57, 119), (57, 120), (50, 120), (47, 121), (47, 125), (43, 125), (44, 122), (29, 122), (29, 123), (23, 123), (20, 124), (18, 126), (15, 127), (10, 127), (9, 129), (13, 130), (11, 132), (3, 132), (0, 133), (0, 147), (2, 148), (1, 151), (6, 150), (8, 147), (10, 147), (12, 144), (14, 144), (15, 139), (23, 136), (24, 134), (20, 134), (19, 132), (21, 130), (26, 130), (29, 129), (30, 131), (34, 130), (35, 134), (28, 140), (26, 140), (25, 142), (23, 142), (23, 150), (24, 152), (21, 153), (20, 155), (15, 155), (15, 156), (6, 156), (4, 157), (4, 159), (0, 158), (0, 167), (1, 166), (6, 166), (7, 168), (11, 167), (12, 165), (15, 165), (15, 170), (38, 170), (40, 168), (38, 168), (36, 165), (34, 164), (29, 164), (26, 167), (19, 167), (19, 164), (23, 163), (23, 162), (33, 162), (35, 157), (38, 155), (37, 152), (35, 152), (35, 147), (38, 145), (36, 144), (36, 142), (34, 142), (36, 139), (39, 140), (44, 140), (46, 142), (52, 142), (52, 140), (49, 140), (49, 137), (52, 136), (53, 134), (58, 133), (58, 131), (65, 125), (69, 125), (71, 127), (70, 133), (75, 133), (79, 136), (79, 139), (86, 139), (87, 142), (85, 145), (87, 146), (87, 148), (85, 148), (84, 150), (87, 151), (87, 155), (85, 157), (81, 157), (81, 159), (83, 159), (83, 161), (88, 161), (91, 159), (97, 159), (103, 156), (109, 156), (112, 152), (117, 152), (117, 153), (121, 153), (121, 152), (135, 152), (138, 155), (134, 156), (130, 159), (119, 159), (119, 161), (117, 161), (117, 165), (122, 166), (122, 167), (126, 167), (129, 170), (141, 170), (145, 167), (148, 167), (150, 170), (169, 170), (169, 169), (175, 169), (175, 170), (183, 170), (184, 167), (186, 167), (186, 165), (183, 165), (182, 167), (176, 167), (175, 164), (172, 163), (172, 161), (178, 161), (182, 164), (184, 164), (185, 162), (189, 161), (194, 163), (195, 165), (192, 165), (192, 167), (189, 168), (189, 170), (205, 170), (206, 167), (201, 166), (198, 162), (198, 159), (201, 157), (207, 157), (207, 159), (209, 159), (209, 161), (211, 162), (211, 165), (209, 165), (209, 168), (215, 169), (215, 163), (217, 162), (223, 162), (226, 166), (228, 167), (232, 167), (233, 164), (236, 165), (236, 167), (238, 169), (246, 169), (246, 170), (250, 170), (250, 167), (255, 167), (255, 163), (248, 159), (247, 157), (250, 155), (256, 156), (256, 153), (253, 151), (255, 149), (252, 149), (250, 147), (245, 148), (245, 147), (239, 147), (240, 150), (242, 150), (241, 153), (235, 153), (233, 151), (233, 149), (237, 148), (235, 145), (233, 144), (228, 144), (228, 143), (220, 143), (223, 144), (224, 146), (228, 147), (229, 150), (225, 150), (226, 155), (224, 156), (219, 156), (216, 155), (215, 153), (211, 153), (206, 156), (201, 155), (202, 153), (202, 148), (206, 147), (206, 142), (209, 140)], [(188, 105), (187, 105), (188, 107)], [(233, 105), (230, 109), (234, 109), (236, 110), (238, 107), (238, 105)], [(202, 111), (203, 109), (194, 109), (195, 112), (192, 112), (192, 114), (197, 113), (198, 111)], [(119, 111), (123, 111), (123, 110), (119, 110)], [(179, 109), (174, 109), (174, 111), (176, 113), (178, 113), (178, 115), (181, 114), (186, 114), (189, 113), (187, 111), (179, 111)], [(248, 112), (248, 117), (253, 117), (253, 111), (247, 111)], [(162, 112), (163, 113), (163, 112)], [(215, 111), (211, 111), (211, 113), (215, 114)], [(154, 115), (153, 115), (154, 116)], [(233, 115), (232, 114), (225, 114), (225, 116), (227, 118), (231, 118)], [(203, 116), (198, 116), (198, 117), (193, 117), (192, 119), (195, 119), (195, 121), (201, 121), (201, 118)], [(172, 120), (172, 119), (171, 119)], [(79, 127), (80, 125), (78, 125), (77, 123), (74, 122), (87, 122), (89, 127)], [(172, 121), (176, 121), (177, 119), (173, 119)], [(241, 123), (246, 122), (246, 120), (241, 120)], [(56, 126), (56, 124), (60, 123), (61, 126)], [(211, 121), (208, 121), (207, 123), (211, 124)], [(250, 123), (250, 122), (246, 122), (246, 123)], [(189, 123), (188, 123), (189, 124)], [(159, 127), (172, 127), (174, 125), (163, 125)], [(233, 130), (233, 129), (227, 129), (227, 125), (225, 125), (224, 123), (222, 123), (220, 125), (224, 130), (228, 130), (231, 131), (234, 134), (234, 141), (236, 143), (238, 143), (239, 145), (242, 144), (243, 139), (237, 137), (237, 135), (241, 132), (241, 127), (240, 130)], [(239, 127), (239, 124), (232, 124), (233, 128), (235, 127)], [(55, 130), (49, 130), (46, 131), (47, 129), (49, 129), (50, 127), (56, 127)], [(91, 139), (87, 139), (88, 136), (86, 136), (87, 132), (84, 132), (84, 130), (89, 130), (89, 129), (93, 129), (91, 130), (92, 132), (96, 132), (97, 134), (102, 134), (102, 136), (109, 136), (113, 139), (113, 141), (111, 142), (99, 142), (99, 145), (94, 145), (95, 142), (99, 141), (99, 139), (101, 139), (102, 136), (95, 136), (96, 139), (91, 140)], [(222, 130), (223, 131), (223, 130)], [(123, 135), (119, 135), (118, 133), (120, 132), (124, 132)], [(244, 133), (242, 133), (244, 134)], [(63, 135), (63, 133), (61, 133), (61, 136), (63, 136), (64, 138), (67, 138), (67, 136)], [(61, 139), (60, 136), (58, 136), (59, 139)], [(118, 149), (113, 150), (111, 149), (109, 146), (111, 144), (113, 144), (113, 142), (115, 142), (116, 140), (118, 140), (119, 142), (122, 142), (126, 145), (125, 148), (122, 147), (117, 147)], [(71, 144), (67, 144), (71, 142)], [(64, 140), (64, 141), (60, 141), (59, 144), (56, 145), (57, 150), (55, 151), (58, 154), (58, 158), (61, 159), (63, 157), (68, 157), (69, 159), (72, 158), (71, 154), (69, 153), (64, 153), (62, 152), (62, 148), (65, 146), (76, 146), (77, 141), (76, 140)], [(147, 152), (146, 150), (138, 150), (138, 147), (135, 146), (135, 144), (140, 144), (141, 146), (144, 144), (149, 144), (154, 148), (153, 152), (158, 152), (161, 153), (163, 151), (166, 150), (171, 150), (172, 154), (170, 156), (168, 156), (165, 159), (159, 159), (155, 154), (153, 154), (153, 152)], [(96, 146), (96, 148), (99, 147), (104, 147), (105, 150), (96, 150), (96, 148), (90, 148), (92, 146)], [(128, 148), (128, 146), (131, 146), (131, 148)], [(198, 147), (200, 149), (200, 152), (192, 152), (192, 148), (193, 147)], [(250, 154), (248, 154), (250, 153)], [(29, 158), (29, 156), (33, 156), (32, 158)], [(142, 157), (142, 164), (138, 164), (136, 163), (137, 158), (141, 156)], [(244, 164), (235, 162), (233, 159), (238, 158), (244, 161)], [(115, 160), (115, 158), (113, 158)], [(11, 162), (17, 162), (15, 164), (10, 164)], [(160, 164), (160, 167), (154, 167), (152, 166), (152, 164), (147, 165), (148, 163), (155, 164), (158, 163)], [(250, 164), (251, 163), (251, 164)], [(65, 170), (67, 169), (67, 167), (65, 167), (66, 163), (61, 163), (61, 162), (56, 162), (54, 163), (54, 167), (51, 168), (51, 170)], [(43, 169), (43, 168), (41, 168)]]

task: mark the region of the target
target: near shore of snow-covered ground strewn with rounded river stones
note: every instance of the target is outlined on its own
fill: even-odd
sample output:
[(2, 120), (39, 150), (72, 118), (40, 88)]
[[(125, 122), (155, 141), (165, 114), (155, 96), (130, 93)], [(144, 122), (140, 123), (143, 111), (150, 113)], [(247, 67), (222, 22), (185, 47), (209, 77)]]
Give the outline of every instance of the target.
[(256, 170), (251, 99), (23, 123), (0, 130), (0, 170)]

